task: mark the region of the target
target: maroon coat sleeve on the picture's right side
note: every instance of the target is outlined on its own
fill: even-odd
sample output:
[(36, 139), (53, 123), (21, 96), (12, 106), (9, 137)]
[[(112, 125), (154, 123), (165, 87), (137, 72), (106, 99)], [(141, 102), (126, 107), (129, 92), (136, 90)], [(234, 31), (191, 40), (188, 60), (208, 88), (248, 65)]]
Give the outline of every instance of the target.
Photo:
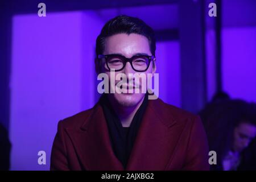
[(191, 127), (184, 170), (208, 171), (208, 141), (200, 117), (196, 117)]

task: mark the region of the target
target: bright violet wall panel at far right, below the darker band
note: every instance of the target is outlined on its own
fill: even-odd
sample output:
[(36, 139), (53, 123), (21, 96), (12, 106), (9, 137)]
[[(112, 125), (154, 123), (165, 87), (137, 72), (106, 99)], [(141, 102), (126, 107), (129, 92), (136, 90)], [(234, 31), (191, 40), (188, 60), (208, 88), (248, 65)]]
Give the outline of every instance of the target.
[(222, 30), (222, 80), (232, 98), (256, 102), (256, 26)]

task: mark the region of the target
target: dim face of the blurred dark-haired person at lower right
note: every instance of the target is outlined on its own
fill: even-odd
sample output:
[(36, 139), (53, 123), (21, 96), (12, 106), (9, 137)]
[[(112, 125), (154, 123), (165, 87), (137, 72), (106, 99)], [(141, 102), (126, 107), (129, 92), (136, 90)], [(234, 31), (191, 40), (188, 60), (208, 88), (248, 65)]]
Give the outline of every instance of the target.
[(243, 122), (234, 129), (233, 150), (241, 152), (256, 136), (256, 126)]

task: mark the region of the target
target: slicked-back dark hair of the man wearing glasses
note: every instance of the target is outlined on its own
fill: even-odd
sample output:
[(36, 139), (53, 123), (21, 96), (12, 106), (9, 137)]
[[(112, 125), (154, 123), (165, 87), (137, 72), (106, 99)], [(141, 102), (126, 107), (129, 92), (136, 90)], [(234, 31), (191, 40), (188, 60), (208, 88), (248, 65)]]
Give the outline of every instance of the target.
[(116, 16), (104, 25), (96, 40), (96, 55), (100, 55), (104, 51), (106, 38), (121, 33), (145, 36), (148, 39), (150, 51), (155, 56), (155, 34), (152, 28), (141, 19), (126, 15)]

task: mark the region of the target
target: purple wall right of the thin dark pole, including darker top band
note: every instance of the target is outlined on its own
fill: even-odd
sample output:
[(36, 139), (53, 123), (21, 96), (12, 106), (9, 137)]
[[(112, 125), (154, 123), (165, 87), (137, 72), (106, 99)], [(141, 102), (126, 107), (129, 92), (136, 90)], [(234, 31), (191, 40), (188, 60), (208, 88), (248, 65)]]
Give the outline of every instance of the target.
[(256, 1), (222, 1), (223, 89), (232, 98), (256, 102)]

